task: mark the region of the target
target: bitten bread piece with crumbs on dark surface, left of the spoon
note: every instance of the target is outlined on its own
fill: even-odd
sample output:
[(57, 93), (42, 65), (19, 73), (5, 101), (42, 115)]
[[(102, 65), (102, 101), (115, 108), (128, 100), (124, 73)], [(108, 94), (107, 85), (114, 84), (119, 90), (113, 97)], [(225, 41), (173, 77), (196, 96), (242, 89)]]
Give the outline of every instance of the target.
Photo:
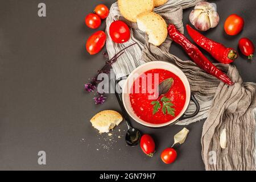
[(118, 126), (123, 121), (123, 117), (117, 111), (104, 110), (94, 115), (90, 122), (100, 133), (108, 133), (109, 130)]

